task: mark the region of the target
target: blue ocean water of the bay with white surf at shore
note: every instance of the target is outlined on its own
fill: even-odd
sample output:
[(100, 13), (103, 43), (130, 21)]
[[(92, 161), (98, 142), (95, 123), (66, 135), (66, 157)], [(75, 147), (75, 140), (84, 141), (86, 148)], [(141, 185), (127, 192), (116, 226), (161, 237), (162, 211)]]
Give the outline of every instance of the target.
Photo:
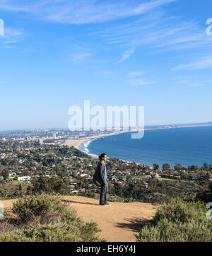
[(212, 126), (146, 130), (142, 139), (131, 139), (131, 133), (105, 136), (86, 141), (81, 151), (110, 158), (144, 163), (189, 165), (212, 164)]

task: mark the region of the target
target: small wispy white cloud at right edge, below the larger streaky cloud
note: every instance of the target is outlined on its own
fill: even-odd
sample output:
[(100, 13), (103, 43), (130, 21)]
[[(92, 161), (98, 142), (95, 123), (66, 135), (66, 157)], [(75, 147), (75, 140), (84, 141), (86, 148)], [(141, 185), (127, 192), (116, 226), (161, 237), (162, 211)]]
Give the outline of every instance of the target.
[(204, 57), (202, 59), (199, 59), (196, 62), (189, 62), (187, 64), (176, 66), (175, 68), (172, 69), (172, 71), (182, 70), (182, 69), (195, 70), (195, 69), (211, 69), (211, 68), (212, 68), (212, 57)]

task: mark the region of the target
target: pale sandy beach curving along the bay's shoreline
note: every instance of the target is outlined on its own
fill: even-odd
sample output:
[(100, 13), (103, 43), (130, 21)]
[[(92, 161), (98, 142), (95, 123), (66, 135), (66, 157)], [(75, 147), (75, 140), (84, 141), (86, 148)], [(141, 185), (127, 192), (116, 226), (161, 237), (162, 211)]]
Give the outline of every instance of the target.
[[(84, 138), (81, 138), (81, 139), (67, 139), (66, 142), (64, 143), (64, 145), (66, 146), (73, 146), (75, 149), (79, 149), (79, 146), (85, 142), (85, 141), (90, 141), (90, 139), (95, 139), (95, 138), (98, 138), (98, 137), (105, 137), (105, 136), (110, 136), (110, 135), (115, 135), (115, 134), (122, 134), (122, 133), (125, 133), (125, 132), (111, 132), (109, 134), (98, 134), (98, 135), (94, 135), (94, 136), (86, 136)], [(91, 153), (88, 153), (88, 155), (90, 155), (92, 158), (98, 158), (97, 155), (94, 155), (94, 154), (91, 154)]]

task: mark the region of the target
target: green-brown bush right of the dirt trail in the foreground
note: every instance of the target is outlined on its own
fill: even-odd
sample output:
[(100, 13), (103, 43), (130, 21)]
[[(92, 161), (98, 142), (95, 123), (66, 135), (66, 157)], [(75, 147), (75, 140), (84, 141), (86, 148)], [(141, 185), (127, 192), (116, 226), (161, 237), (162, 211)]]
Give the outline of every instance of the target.
[(206, 219), (202, 202), (173, 199), (160, 206), (153, 221), (142, 228), (139, 242), (209, 242), (212, 241), (212, 220)]

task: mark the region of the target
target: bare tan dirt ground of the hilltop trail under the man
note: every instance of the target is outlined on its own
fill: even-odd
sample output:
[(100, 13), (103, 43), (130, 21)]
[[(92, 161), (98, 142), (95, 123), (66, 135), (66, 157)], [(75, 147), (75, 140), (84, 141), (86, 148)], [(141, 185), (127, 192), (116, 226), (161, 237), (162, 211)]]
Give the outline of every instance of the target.
[[(98, 200), (87, 197), (64, 196), (64, 202), (75, 209), (83, 221), (95, 221), (102, 230), (100, 238), (107, 242), (135, 242), (135, 233), (141, 229), (141, 222), (152, 219), (157, 207), (147, 203), (110, 202), (110, 206), (100, 206)], [(16, 199), (1, 201), (5, 209), (13, 206)]]

